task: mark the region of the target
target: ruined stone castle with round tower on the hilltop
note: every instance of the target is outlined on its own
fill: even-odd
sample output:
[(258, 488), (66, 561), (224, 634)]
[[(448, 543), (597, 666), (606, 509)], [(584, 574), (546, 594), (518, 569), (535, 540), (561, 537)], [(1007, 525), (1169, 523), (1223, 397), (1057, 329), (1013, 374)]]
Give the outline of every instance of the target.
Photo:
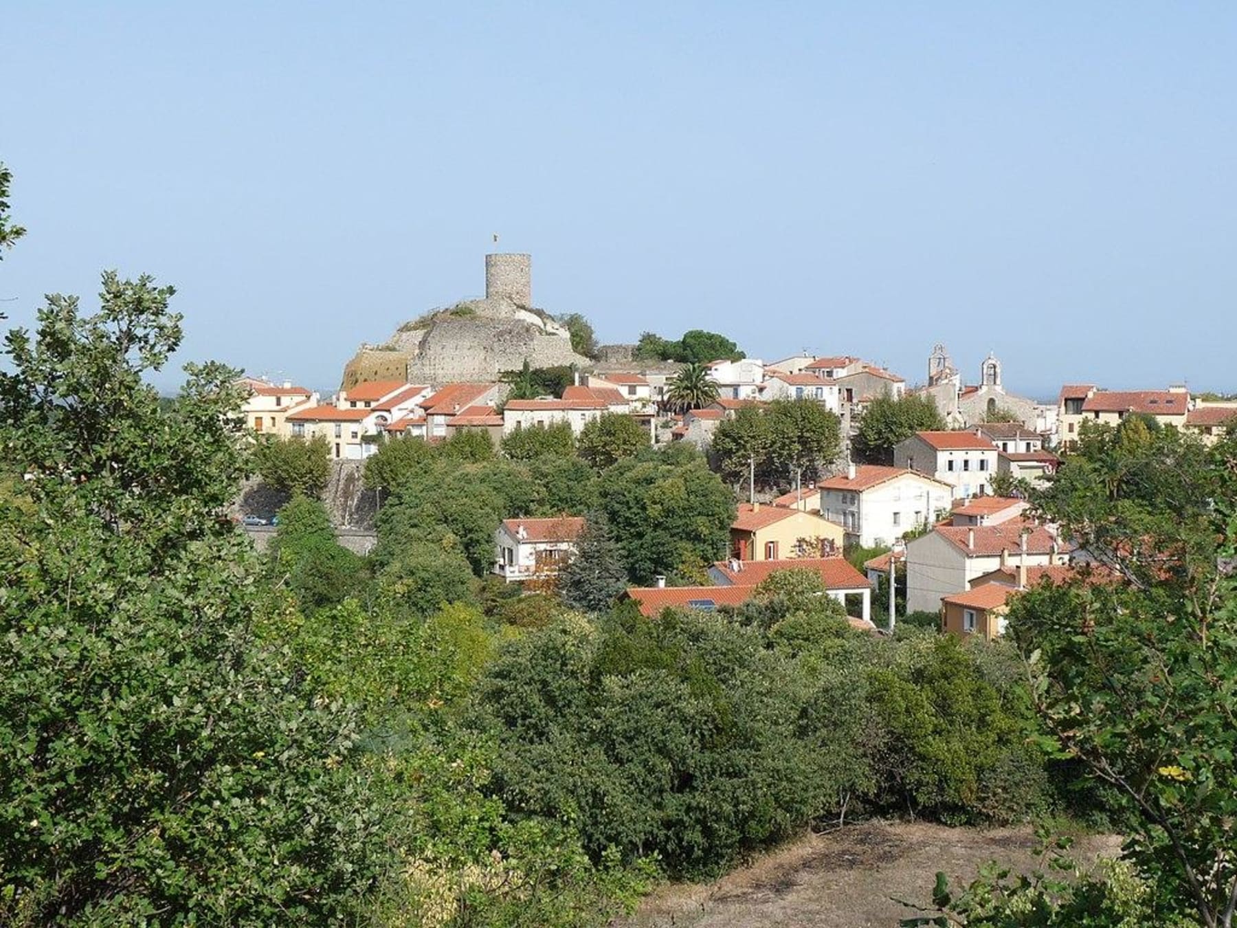
[(485, 256), (485, 297), (463, 299), (406, 322), (381, 345), (362, 344), (344, 367), (343, 389), (366, 380), (412, 384), (494, 381), (502, 371), (586, 365), (571, 337), (533, 307), (532, 256)]

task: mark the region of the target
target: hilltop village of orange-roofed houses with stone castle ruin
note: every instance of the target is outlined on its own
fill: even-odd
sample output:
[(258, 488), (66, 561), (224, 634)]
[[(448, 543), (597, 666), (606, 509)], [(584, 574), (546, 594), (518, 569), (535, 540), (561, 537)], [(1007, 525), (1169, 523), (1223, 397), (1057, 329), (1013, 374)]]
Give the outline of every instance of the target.
[[(1195, 397), (1184, 385), (1066, 384), (1055, 403), (1039, 402), (1006, 390), (992, 354), (969, 382), (941, 344), (914, 386), (851, 354), (762, 360), (705, 332), (683, 343), (724, 356), (698, 350), (677, 360), (672, 343), (651, 334), (596, 345), (580, 317), (557, 319), (534, 306), (531, 264), (528, 255), (486, 255), (484, 298), (362, 345), (333, 396), (246, 377), (246, 426), (260, 438), (317, 442), (339, 466), (390, 442), (479, 436), (500, 453), (533, 431), (580, 440), (618, 418), (637, 442), (703, 452), (741, 500), (706, 584), (658, 574), (627, 590), (646, 614), (738, 605), (771, 570), (793, 565), (818, 572), (856, 626), (876, 627), (877, 598), (888, 608), (882, 627), (897, 620), (887, 586), (882, 593), (894, 577), (907, 612), (936, 614), (945, 631), (991, 638), (1003, 630), (1011, 596), (1090, 561), (1055, 526), (1032, 518), (1024, 499), (1084, 428), (1141, 417), (1213, 442), (1237, 422), (1237, 402)], [(756, 454), (736, 453), (731, 433), (785, 401), (833, 417), (837, 440), (830, 453), (757, 474)], [(914, 415), (898, 421), (899, 408), (930, 410), (919, 423), (927, 427), (915, 427)], [(882, 444), (891, 411), (897, 424)], [(584, 526), (583, 513), (506, 518), (494, 533), (490, 572), (544, 589), (575, 556)], [(856, 551), (876, 553), (844, 558)]]

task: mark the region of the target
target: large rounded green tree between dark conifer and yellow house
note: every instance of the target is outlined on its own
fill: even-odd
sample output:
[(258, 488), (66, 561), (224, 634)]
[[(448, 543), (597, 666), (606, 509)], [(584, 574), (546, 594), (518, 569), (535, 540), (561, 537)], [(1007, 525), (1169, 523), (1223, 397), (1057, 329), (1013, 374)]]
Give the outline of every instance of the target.
[(726, 552), (734, 495), (690, 448), (649, 449), (620, 460), (602, 473), (599, 494), (627, 574), (637, 583)]

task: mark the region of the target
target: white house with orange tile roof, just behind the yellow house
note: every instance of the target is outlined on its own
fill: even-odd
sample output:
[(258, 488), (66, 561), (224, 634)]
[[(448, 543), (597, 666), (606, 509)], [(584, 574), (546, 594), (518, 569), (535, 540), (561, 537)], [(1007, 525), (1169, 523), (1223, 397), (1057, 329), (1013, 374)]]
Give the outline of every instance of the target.
[(889, 544), (949, 511), (954, 488), (905, 468), (851, 464), (821, 480), (820, 515), (863, 547)]

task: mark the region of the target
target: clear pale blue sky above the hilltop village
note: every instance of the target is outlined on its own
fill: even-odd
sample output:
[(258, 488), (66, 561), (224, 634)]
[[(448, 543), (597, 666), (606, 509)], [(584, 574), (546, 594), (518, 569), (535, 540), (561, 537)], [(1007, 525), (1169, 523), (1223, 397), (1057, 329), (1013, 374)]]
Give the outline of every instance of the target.
[(1237, 390), (1231, 0), (4, 6), (20, 323), (147, 271), (332, 389), (497, 231), (606, 342)]

